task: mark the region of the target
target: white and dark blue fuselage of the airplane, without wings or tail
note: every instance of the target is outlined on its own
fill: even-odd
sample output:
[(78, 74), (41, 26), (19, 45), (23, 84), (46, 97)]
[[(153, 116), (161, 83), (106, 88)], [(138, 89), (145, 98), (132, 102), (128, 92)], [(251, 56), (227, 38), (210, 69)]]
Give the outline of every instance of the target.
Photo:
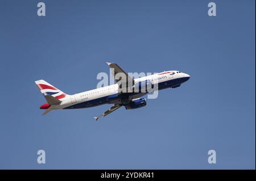
[[(145, 77), (134, 79), (134, 82), (142, 82), (146, 80), (150, 80), (152, 85), (158, 83), (159, 90), (165, 89), (167, 87), (175, 87), (179, 86), (181, 83), (187, 81), (189, 79), (189, 75), (185, 73), (181, 73), (176, 70), (171, 71), (164, 71), (158, 74), (152, 74)], [(146, 93), (137, 93), (131, 94), (129, 99), (138, 98), (139, 96), (143, 96)], [(65, 108), (86, 108), (86, 107), (93, 107), (99, 106), (101, 104), (106, 103), (114, 103), (109, 102), (107, 99), (108, 96), (118, 95), (118, 84), (115, 83), (114, 85), (109, 85), (105, 87), (101, 87), (98, 89), (93, 89), (85, 92), (80, 92), (78, 94), (67, 95), (65, 98), (61, 99), (61, 104), (51, 106), (52, 110), (55, 109), (65, 109)], [(114, 99), (114, 101), (120, 101)]]

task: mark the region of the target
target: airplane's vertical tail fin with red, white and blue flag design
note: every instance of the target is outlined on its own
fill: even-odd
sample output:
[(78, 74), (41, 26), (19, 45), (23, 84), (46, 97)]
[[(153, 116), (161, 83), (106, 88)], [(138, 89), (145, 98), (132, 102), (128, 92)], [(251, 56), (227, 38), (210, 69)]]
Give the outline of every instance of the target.
[(35, 81), (35, 83), (39, 87), (45, 98), (47, 95), (51, 95), (56, 99), (63, 99), (65, 98), (65, 96), (67, 96), (67, 94), (65, 94), (63, 91), (60, 91), (59, 89), (44, 80)]

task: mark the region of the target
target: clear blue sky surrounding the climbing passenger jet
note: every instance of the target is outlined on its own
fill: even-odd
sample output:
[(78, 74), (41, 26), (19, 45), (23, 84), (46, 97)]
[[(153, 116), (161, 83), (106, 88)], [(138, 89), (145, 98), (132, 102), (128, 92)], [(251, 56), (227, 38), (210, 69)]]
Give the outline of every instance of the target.
[[(255, 1), (43, 2), (0, 2), (0, 169), (255, 169)], [(110, 105), (42, 116), (34, 81), (94, 89), (106, 61), (191, 79), (97, 122)]]

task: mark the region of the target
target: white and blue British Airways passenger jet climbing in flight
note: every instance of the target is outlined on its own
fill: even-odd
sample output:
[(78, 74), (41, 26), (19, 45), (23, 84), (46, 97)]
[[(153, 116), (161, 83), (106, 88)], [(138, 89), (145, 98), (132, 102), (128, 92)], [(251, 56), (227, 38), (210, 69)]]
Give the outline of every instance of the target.
[[(149, 91), (147, 88), (143, 89), (142, 85), (147, 85), (147, 87), (151, 88), (155, 86), (158, 90), (163, 90), (170, 87), (179, 87), (190, 78), (190, 75), (188, 74), (182, 73), (178, 70), (170, 70), (133, 79), (117, 64), (109, 62), (106, 63), (114, 70), (114, 75), (121, 73), (125, 75), (125, 78), (115, 79), (115, 83), (113, 85), (73, 95), (65, 94), (42, 79), (35, 81), (47, 101), (47, 103), (40, 106), (40, 109), (46, 110), (43, 115), (46, 115), (52, 110), (89, 108), (100, 106), (102, 104), (114, 104), (101, 115), (94, 117), (97, 121), (100, 117), (109, 115), (109, 113), (112, 113), (122, 106), (124, 106), (126, 110), (133, 110), (146, 106), (146, 99), (141, 97), (148, 94)], [(125, 83), (122, 83), (124, 81)], [(123, 86), (123, 84), (125, 86)], [(120, 91), (120, 89), (123, 88), (122, 86), (125, 87), (126, 90), (129, 89), (130, 91)], [(138, 91), (135, 91), (135, 87), (138, 88)]]

